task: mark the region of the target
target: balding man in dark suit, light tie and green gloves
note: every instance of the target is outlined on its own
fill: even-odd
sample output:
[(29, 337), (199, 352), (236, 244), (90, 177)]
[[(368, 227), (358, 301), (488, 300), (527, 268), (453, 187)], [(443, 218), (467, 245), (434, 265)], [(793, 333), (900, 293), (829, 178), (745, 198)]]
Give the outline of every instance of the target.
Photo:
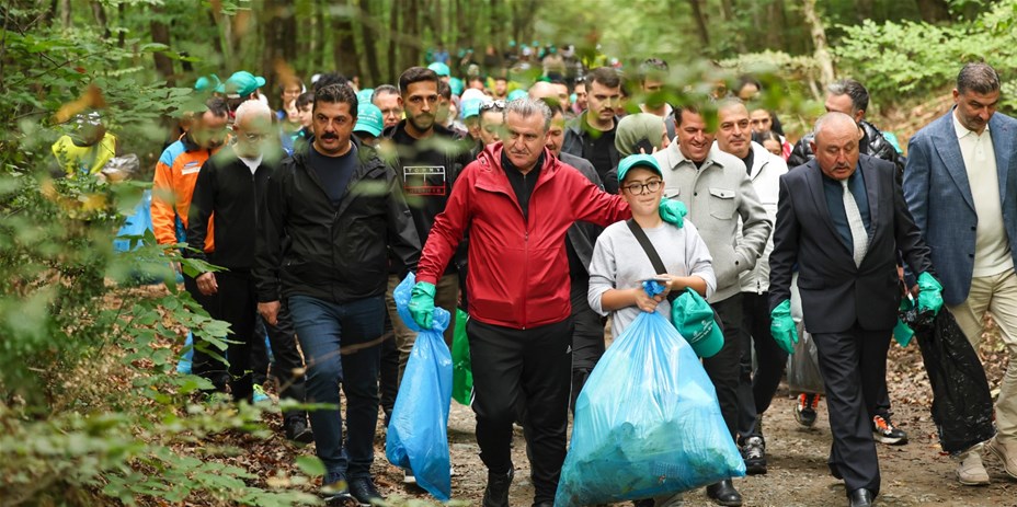
[(805, 327), (815, 339), (829, 396), (830, 471), (844, 480), (850, 506), (869, 506), (880, 476), (867, 405), (878, 400), (878, 379), (885, 377), (887, 336), (901, 300), (899, 251), (922, 274), (923, 289), (928, 287), (919, 309), (938, 311), (941, 299), (893, 164), (859, 154), (858, 126), (844, 113), (820, 117), (812, 148), (814, 160), (780, 176), (770, 254), (772, 332), (793, 352), (790, 285), (797, 264)]

